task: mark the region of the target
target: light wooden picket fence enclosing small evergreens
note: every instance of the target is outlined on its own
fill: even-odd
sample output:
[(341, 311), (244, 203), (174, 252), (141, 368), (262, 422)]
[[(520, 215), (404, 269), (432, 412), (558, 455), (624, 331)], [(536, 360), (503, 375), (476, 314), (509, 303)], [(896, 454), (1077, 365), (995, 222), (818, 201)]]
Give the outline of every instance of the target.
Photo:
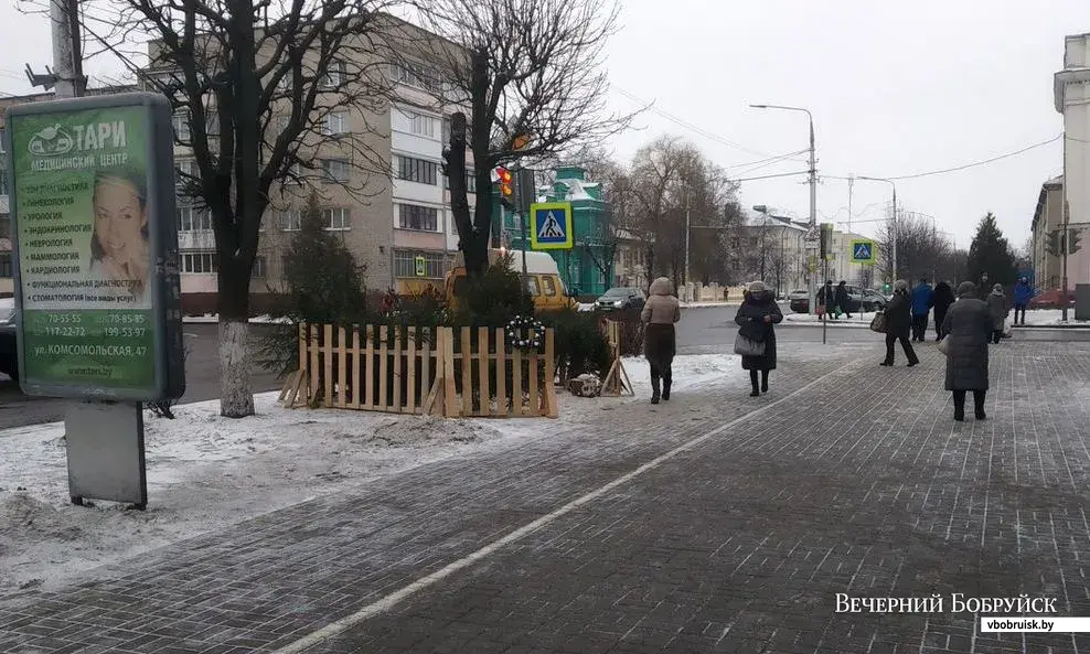
[(286, 407), (456, 417), (548, 417), (558, 407), (555, 334), (511, 349), (502, 328), (299, 325)]

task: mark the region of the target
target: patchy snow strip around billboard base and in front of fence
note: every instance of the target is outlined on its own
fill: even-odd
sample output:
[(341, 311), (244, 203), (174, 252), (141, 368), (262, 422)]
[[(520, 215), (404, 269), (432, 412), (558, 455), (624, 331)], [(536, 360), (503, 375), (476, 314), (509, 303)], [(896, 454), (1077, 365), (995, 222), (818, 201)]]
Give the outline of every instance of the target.
[[(678, 356), (678, 389), (737, 371), (734, 355)], [(558, 392), (560, 417), (447, 420), (351, 410), (285, 409), (277, 393), (258, 414), (218, 415), (218, 400), (148, 414), (147, 511), (70, 503), (61, 422), (0, 431), (0, 592), (56, 588), (98, 566), (449, 457), (515, 447), (587, 424), (627, 401), (646, 401), (642, 357), (624, 360), (635, 397)]]

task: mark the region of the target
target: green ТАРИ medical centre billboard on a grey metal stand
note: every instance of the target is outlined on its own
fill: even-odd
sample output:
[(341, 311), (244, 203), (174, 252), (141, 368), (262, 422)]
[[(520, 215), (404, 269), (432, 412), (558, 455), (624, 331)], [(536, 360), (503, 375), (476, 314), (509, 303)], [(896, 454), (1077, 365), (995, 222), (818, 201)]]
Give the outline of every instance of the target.
[(74, 503), (145, 508), (142, 403), (185, 392), (169, 103), (32, 103), (4, 124), (20, 385), (75, 400)]

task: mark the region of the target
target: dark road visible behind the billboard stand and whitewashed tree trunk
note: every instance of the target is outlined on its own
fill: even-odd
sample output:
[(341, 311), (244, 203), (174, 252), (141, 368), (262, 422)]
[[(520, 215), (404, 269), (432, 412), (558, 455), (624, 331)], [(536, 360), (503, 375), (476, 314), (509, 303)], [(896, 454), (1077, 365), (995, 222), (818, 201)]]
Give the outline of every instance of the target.
[[(264, 329), (255, 325), (257, 330)], [(185, 395), (180, 403), (205, 401), (220, 397), (220, 361), (215, 324), (186, 324)], [(274, 375), (261, 368), (254, 371), (254, 390), (279, 388)], [(19, 385), (0, 375), (0, 429), (53, 422), (64, 419), (64, 400), (30, 398)]]

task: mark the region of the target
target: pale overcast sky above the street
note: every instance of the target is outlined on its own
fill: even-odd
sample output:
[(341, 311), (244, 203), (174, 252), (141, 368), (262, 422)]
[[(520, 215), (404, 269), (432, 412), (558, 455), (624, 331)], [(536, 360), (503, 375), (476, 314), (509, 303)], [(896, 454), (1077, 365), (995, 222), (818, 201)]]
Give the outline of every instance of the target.
[[(808, 146), (804, 114), (750, 109), (801, 106), (814, 115), (818, 168), (825, 175), (895, 176), (972, 163), (1046, 141), (1062, 130), (1052, 74), (1064, 36), (1090, 31), (1087, 0), (628, 0), (608, 47), (620, 110), (624, 94), (656, 112), (613, 143), (628, 160), (642, 143), (673, 133), (697, 143), (735, 176), (805, 169), (805, 158), (738, 167)], [(0, 0), (0, 92), (26, 93), (22, 72), (52, 62), (47, 19)], [(92, 75), (116, 72), (108, 61)], [(731, 144), (734, 143), (734, 144)], [(897, 182), (899, 203), (936, 217), (968, 247), (987, 211), (1012, 243), (1029, 234), (1041, 182), (1062, 169), (1059, 141), (995, 163)], [(738, 167), (738, 168), (730, 168)], [(809, 216), (804, 175), (745, 182), (745, 206)], [(873, 233), (889, 184), (856, 182), (856, 232)], [(823, 179), (818, 219), (847, 219), (847, 182)], [(843, 226), (841, 226), (843, 227)]]

